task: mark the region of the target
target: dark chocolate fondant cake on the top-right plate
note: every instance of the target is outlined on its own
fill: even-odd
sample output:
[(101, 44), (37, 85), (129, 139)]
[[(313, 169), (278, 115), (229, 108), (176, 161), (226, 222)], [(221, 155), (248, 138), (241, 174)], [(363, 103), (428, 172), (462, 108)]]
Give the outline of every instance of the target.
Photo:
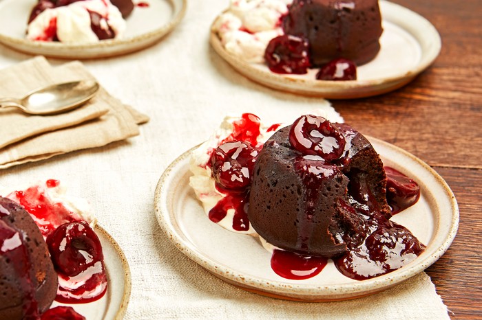
[(308, 39), (314, 66), (335, 58), (357, 65), (372, 60), (383, 31), (377, 0), (294, 0), (282, 26), (286, 34)]

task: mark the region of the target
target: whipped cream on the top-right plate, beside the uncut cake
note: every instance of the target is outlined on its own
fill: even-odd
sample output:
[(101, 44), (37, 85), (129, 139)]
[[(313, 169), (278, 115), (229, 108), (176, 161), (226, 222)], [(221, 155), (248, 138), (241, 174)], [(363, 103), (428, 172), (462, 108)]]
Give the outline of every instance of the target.
[(281, 17), (293, 0), (231, 0), (213, 23), (227, 52), (248, 62), (264, 62), (271, 39), (284, 34)]

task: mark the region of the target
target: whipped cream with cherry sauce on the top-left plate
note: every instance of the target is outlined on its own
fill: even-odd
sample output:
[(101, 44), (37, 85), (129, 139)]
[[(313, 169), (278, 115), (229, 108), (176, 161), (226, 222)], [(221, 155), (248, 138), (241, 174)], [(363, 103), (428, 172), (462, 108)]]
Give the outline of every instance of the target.
[(56, 32), (62, 43), (96, 43), (99, 39), (92, 31), (90, 12), (101, 16), (101, 29), (111, 27), (114, 38), (123, 36), (126, 23), (115, 5), (109, 0), (85, 0), (44, 10), (29, 23), (27, 38), (32, 41), (52, 41)]

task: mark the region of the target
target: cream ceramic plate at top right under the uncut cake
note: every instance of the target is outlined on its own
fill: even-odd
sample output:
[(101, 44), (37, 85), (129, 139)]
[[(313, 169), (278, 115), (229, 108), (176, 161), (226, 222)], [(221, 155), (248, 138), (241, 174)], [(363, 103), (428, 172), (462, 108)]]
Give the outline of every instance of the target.
[(357, 80), (353, 81), (315, 80), (317, 69), (305, 75), (273, 73), (264, 64), (249, 63), (229, 54), (215, 32), (211, 32), (210, 41), (231, 67), (266, 87), (328, 99), (379, 95), (413, 80), (432, 64), (441, 49), (439, 33), (423, 16), (388, 1), (379, 4), (384, 28), (380, 52), (374, 60), (357, 68)]

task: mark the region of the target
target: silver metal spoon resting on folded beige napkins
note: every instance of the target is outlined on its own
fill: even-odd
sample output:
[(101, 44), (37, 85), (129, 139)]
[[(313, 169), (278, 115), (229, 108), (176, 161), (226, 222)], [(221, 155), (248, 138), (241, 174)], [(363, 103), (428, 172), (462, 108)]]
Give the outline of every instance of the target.
[(12, 106), (30, 115), (54, 115), (78, 108), (90, 100), (98, 88), (94, 80), (52, 84), (28, 93), (25, 98), (0, 98), (0, 109)]

